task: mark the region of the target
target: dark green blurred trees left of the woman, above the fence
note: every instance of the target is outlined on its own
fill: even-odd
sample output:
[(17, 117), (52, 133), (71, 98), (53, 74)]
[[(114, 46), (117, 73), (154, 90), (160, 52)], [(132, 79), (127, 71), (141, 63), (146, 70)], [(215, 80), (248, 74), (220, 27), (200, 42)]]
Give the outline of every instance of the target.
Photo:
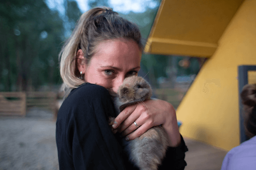
[(59, 82), (63, 21), (43, 0), (0, 2), (0, 91)]

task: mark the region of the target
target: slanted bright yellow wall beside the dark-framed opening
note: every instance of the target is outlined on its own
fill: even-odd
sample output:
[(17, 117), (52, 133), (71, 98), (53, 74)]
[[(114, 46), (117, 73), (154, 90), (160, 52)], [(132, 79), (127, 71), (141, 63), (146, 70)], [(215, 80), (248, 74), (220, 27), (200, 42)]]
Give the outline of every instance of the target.
[(239, 145), (239, 65), (256, 65), (256, 0), (245, 0), (177, 109), (180, 133), (230, 150)]

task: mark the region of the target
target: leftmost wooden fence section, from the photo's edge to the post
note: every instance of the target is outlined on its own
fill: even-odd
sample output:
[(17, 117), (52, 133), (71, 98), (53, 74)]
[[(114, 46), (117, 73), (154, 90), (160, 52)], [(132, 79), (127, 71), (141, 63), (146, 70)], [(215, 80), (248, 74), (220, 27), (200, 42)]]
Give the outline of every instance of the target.
[(24, 92), (0, 92), (0, 115), (26, 115)]

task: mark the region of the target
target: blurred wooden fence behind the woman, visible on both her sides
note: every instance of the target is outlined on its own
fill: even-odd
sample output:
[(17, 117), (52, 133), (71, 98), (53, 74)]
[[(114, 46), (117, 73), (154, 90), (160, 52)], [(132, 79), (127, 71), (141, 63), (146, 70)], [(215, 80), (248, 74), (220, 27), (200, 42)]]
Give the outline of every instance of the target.
[[(157, 98), (170, 102), (174, 108), (178, 107), (182, 96), (184, 96), (184, 92), (175, 89), (154, 89), (154, 94)], [(37, 107), (52, 111), (56, 119), (63, 96), (64, 94), (56, 94), (52, 91), (0, 92), (0, 116), (25, 116), (26, 110)]]

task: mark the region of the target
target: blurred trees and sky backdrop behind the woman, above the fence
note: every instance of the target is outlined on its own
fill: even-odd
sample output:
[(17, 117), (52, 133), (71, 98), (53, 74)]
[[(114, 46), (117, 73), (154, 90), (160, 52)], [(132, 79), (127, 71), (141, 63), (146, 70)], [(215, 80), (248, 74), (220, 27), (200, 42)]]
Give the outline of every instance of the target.
[[(137, 23), (145, 44), (161, 0), (12, 0), (0, 2), (0, 91), (54, 91), (62, 83), (58, 54), (82, 13), (110, 6)], [(168, 88), (177, 108), (205, 60), (143, 54), (141, 76), (154, 88)], [(171, 90), (173, 89), (173, 90)], [(161, 94), (156, 91), (156, 94)], [(174, 96), (168, 97), (168, 96)]]

